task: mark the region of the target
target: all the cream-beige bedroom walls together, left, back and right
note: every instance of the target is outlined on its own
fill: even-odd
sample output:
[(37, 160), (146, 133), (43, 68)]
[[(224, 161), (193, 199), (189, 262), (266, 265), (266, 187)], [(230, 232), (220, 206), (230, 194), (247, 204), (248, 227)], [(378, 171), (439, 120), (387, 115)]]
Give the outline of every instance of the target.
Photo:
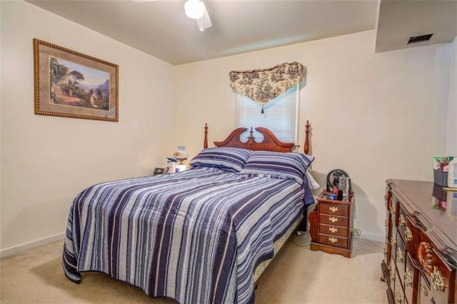
[[(0, 255), (61, 238), (86, 186), (146, 175), (177, 144), (194, 156), (204, 123), (224, 138), (231, 70), (306, 66), (300, 141), (308, 119), (314, 175), (350, 174), (364, 235), (383, 238), (386, 178), (431, 180), (431, 156), (456, 151), (456, 40), (375, 54), (366, 31), (174, 67), (26, 2), (0, 1), (0, 14)], [(119, 123), (34, 115), (33, 38), (119, 64)]]

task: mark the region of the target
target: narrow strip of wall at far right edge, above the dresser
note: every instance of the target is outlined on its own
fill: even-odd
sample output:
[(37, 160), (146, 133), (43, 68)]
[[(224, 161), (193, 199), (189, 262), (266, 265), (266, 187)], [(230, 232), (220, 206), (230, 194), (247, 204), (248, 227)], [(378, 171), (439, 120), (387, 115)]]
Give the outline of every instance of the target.
[(451, 76), (449, 76), (448, 125), (446, 155), (457, 156), (457, 37), (452, 43)]

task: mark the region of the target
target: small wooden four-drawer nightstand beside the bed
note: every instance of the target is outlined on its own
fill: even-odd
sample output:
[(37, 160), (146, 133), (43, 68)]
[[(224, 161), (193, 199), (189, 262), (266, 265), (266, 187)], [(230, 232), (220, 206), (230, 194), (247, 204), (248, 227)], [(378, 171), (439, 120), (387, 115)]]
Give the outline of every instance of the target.
[(353, 194), (348, 201), (331, 199), (330, 194), (327, 191), (319, 194), (316, 209), (309, 216), (311, 250), (351, 258)]

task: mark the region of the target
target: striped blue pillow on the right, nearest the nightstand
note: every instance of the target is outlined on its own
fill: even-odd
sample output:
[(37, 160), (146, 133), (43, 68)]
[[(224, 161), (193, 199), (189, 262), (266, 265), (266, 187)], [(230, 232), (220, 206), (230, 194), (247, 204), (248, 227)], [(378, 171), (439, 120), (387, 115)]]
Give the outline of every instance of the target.
[(241, 174), (293, 178), (298, 183), (303, 183), (306, 169), (313, 160), (313, 156), (303, 153), (254, 151), (246, 161)]

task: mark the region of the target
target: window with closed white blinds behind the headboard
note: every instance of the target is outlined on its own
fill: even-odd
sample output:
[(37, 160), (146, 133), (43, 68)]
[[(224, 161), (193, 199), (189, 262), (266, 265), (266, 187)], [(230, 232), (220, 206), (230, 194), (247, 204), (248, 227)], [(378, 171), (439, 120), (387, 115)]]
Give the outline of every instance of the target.
[[(286, 143), (298, 143), (298, 104), (300, 101), (299, 84), (289, 88), (286, 93), (273, 98), (262, 106), (251, 98), (238, 93), (238, 127), (248, 128), (241, 136), (247, 141), (252, 128), (262, 126), (270, 129), (276, 137)], [(256, 141), (262, 141), (261, 133), (253, 130)]]

